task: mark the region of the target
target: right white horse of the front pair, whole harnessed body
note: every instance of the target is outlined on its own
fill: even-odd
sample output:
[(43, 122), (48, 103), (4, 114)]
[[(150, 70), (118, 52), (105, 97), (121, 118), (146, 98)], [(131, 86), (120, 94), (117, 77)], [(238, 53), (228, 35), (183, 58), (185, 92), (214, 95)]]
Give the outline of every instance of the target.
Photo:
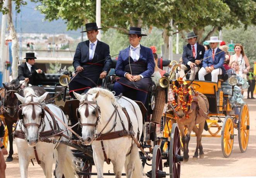
[[(92, 88), (85, 95), (80, 95), (75, 92), (73, 93), (81, 103), (78, 112), (80, 114), (82, 138), (84, 139), (84, 144), (92, 144), (93, 159), (97, 169), (97, 175), (98, 178), (102, 178), (105, 158), (102, 151), (101, 141), (94, 141), (95, 136), (99, 134), (106, 125), (107, 126), (103, 130), (102, 134), (111, 131), (115, 122), (116, 126), (111, 132), (123, 130), (123, 126), (119, 119), (118, 113), (123, 120), (123, 124), (125, 125), (126, 130), (128, 130), (128, 120), (126, 119), (126, 115), (121, 108), (125, 107), (130, 116), (130, 122), (132, 123), (133, 131), (135, 133), (134, 137), (137, 138), (137, 134), (139, 134), (140, 138), (143, 127), (142, 113), (137, 103), (135, 103), (133, 100), (130, 100), (126, 97), (122, 97), (119, 100), (116, 100), (113, 93), (106, 89)], [(86, 101), (90, 102), (88, 106), (83, 104)], [(87, 111), (86, 107), (88, 109)], [(108, 123), (111, 115), (115, 112), (115, 107), (117, 107), (118, 113), (116, 112), (113, 115), (111, 121)], [(96, 108), (99, 108), (100, 112), (97, 112)], [(97, 120), (96, 117), (98, 114), (99, 120)], [(140, 133), (138, 133), (138, 130)], [(124, 136), (116, 139), (103, 140), (103, 143), (106, 156), (111, 160), (111, 163), (113, 164), (116, 178), (121, 178), (121, 173), (124, 166), (126, 177), (143, 177), (142, 162), (140, 161), (138, 147), (134, 142), (132, 142), (131, 137)], [(133, 143), (133, 150), (131, 154), (126, 157), (126, 154), (130, 151), (131, 143)]]

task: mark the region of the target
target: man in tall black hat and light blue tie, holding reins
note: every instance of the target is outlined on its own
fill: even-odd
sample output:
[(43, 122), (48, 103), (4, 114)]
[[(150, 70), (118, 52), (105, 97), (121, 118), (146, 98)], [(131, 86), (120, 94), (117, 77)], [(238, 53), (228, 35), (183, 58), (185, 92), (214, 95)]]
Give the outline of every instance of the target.
[[(79, 74), (69, 83), (70, 95), (73, 91), (86, 93), (90, 88), (101, 85), (112, 64), (108, 44), (97, 39), (99, 29), (96, 22), (85, 24), (89, 40), (77, 45), (73, 67)], [(74, 97), (74, 96), (73, 96)]]

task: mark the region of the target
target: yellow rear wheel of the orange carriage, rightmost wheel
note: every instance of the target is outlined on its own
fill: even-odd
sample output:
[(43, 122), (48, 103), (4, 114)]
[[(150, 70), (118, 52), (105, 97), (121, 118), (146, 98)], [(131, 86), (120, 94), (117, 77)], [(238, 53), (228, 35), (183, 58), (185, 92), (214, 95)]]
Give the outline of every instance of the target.
[(249, 141), (250, 118), (247, 105), (242, 105), (238, 120), (238, 142), (242, 153), (246, 152)]

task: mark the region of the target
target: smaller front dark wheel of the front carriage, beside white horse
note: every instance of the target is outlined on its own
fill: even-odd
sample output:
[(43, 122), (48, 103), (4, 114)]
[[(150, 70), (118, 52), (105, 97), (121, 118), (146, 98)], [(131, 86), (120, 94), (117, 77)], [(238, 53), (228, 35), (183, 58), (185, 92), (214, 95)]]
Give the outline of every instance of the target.
[(151, 177), (166, 177), (166, 173), (163, 172), (161, 149), (158, 145), (155, 145), (153, 149)]

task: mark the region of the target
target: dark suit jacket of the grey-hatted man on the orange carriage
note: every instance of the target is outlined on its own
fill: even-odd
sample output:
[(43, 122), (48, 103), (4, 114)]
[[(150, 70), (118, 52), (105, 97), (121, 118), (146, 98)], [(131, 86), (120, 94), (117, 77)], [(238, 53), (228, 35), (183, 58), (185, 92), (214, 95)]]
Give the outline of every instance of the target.
[(183, 60), (183, 63), (187, 66), (188, 66), (189, 61), (195, 63), (195, 60), (203, 59), (203, 56), (205, 55), (205, 47), (202, 46), (201, 44), (198, 44), (198, 43), (196, 43), (196, 44), (197, 44), (196, 59), (193, 58), (191, 45), (187, 44), (187, 45), (183, 46), (182, 60)]

